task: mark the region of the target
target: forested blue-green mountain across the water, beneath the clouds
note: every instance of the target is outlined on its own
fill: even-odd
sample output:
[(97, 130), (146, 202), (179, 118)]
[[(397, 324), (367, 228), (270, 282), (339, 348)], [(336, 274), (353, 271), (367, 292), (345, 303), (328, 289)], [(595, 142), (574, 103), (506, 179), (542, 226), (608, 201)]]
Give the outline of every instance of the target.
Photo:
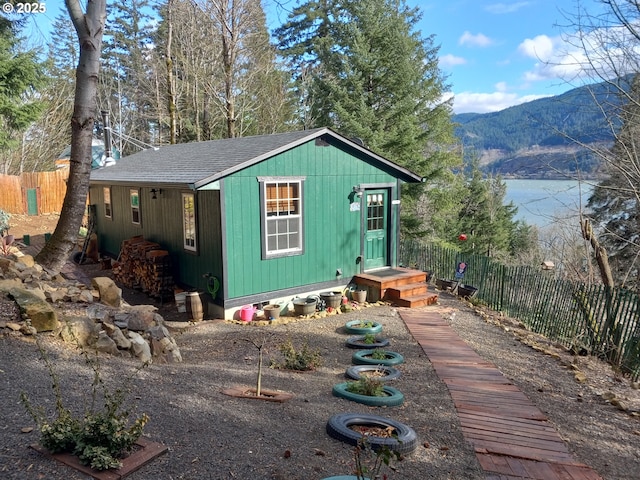
[(577, 142), (611, 144), (613, 134), (603, 109), (619, 105), (619, 95), (600, 83), (499, 112), (454, 115), (453, 121), (466, 158), (480, 159), (485, 171), (547, 178), (580, 171), (594, 176), (600, 162)]

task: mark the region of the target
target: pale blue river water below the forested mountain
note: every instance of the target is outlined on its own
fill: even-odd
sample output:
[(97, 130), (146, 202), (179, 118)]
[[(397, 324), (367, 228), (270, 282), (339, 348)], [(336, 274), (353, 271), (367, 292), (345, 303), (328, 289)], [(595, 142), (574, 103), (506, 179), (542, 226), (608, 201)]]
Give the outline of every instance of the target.
[(509, 201), (518, 207), (516, 220), (540, 228), (554, 223), (578, 222), (593, 191), (593, 182), (576, 180), (505, 180)]

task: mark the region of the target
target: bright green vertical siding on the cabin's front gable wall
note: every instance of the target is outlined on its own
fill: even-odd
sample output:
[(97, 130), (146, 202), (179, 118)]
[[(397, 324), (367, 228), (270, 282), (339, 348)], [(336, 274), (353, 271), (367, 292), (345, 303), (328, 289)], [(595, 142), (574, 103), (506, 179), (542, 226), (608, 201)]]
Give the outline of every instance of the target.
[[(262, 260), (260, 176), (304, 176), (304, 254)], [(348, 281), (360, 272), (361, 212), (350, 211), (358, 184), (395, 185), (396, 179), (333, 146), (309, 142), (224, 179), (227, 298)], [(390, 199), (397, 198), (396, 188)], [(395, 223), (391, 230), (396, 234)]]

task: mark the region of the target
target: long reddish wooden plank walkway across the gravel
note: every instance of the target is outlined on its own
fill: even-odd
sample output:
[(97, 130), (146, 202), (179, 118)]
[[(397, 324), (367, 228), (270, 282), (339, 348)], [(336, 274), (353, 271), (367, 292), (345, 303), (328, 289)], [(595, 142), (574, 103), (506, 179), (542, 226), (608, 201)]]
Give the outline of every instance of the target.
[(488, 480), (602, 480), (573, 459), (546, 416), (437, 310), (403, 309), (400, 316), (449, 387), (464, 437)]

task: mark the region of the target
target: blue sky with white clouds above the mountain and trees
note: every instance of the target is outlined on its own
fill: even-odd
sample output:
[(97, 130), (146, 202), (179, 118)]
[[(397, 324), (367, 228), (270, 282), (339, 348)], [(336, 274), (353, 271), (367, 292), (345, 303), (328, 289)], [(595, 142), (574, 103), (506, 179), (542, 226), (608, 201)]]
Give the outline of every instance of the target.
[[(113, 0), (108, 0), (113, 1)], [(366, 0), (363, 0), (366, 1)], [(580, 0), (593, 8), (597, 0)], [(286, 19), (297, 0), (266, 0), (270, 26)], [(47, 33), (64, 4), (46, 0), (47, 12), (34, 14)], [(440, 68), (448, 76), (454, 112), (486, 113), (579, 86), (573, 81), (571, 48), (562, 40), (576, 0), (407, 0), (422, 12), (419, 29), (435, 35)], [(279, 5), (279, 6), (278, 6)], [(37, 18), (36, 18), (37, 15)], [(569, 83), (573, 82), (573, 83)]]

